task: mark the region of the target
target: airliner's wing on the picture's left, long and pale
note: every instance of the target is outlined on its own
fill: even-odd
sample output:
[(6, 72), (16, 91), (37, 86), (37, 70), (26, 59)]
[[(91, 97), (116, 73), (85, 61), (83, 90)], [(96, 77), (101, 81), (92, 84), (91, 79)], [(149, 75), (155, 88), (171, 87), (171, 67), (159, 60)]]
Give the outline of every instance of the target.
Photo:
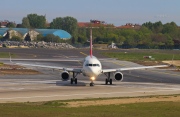
[[(12, 63), (13, 63), (13, 62), (12, 62)], [(57, 67), (57, 66), (25, 64), (25, 63), (13, 63), (13, 64), (22, 65), (22, 66), (31, 66), (31, 67), (41, 67), (41, 68), (49, 68), (49, 69), (58, 69), (58, 70), (64, 70), (64, 71), (69, 71), (69, 72), (81, 73), (81, 68), (66, 68), (66, 67)]]

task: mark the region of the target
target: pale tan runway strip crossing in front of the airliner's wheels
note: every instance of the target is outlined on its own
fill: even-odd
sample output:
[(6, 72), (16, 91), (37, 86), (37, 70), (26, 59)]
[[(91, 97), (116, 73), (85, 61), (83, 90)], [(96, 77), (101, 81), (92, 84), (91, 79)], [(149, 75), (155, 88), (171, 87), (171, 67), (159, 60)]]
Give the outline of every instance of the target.
[(179, 85), (164, 83), (116, 82), (115, 85), (105, 86), (104, 82), (96, 81), (96, 86), (89, 87), (88, 81), (80, 81), (78, 85), (59, 80), (10, 79), (0, 82), (0, 103), (168, 95), (180, 92)]

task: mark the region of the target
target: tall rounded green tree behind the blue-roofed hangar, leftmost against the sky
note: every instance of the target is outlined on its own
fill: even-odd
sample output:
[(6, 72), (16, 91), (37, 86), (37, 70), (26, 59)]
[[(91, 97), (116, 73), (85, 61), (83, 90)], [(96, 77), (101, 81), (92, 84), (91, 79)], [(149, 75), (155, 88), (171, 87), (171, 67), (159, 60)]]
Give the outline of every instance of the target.
[(46, 18), (42, 15), (29, 14), (27, 15), (31, 28), (46, 28)]

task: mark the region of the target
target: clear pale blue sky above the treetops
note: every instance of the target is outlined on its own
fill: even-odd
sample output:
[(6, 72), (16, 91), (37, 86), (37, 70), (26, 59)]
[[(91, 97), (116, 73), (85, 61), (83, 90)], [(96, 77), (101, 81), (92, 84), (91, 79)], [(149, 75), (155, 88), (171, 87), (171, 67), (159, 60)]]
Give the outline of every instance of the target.
[(0, 0), (0, 21), (21, 23), (27, 14), (56, 17), (72, 16), (78, 22), (91, 19), (115, 26), (174, 21), (180, 26), (180, 0)]

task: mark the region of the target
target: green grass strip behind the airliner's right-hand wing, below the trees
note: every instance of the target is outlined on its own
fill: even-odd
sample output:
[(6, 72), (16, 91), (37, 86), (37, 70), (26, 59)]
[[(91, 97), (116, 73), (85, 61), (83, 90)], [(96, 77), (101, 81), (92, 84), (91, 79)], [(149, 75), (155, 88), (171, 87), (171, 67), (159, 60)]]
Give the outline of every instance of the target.
[[(174, 60), (180, 60), (180, 54), (173, 55), (172, 53), (159, 52), (105, 52), (103, 55), (126, 61), (163, 61), (172, 60), (173, 56)], [(152, 56), (154, 59), (147, 59), (144, 56)]]

